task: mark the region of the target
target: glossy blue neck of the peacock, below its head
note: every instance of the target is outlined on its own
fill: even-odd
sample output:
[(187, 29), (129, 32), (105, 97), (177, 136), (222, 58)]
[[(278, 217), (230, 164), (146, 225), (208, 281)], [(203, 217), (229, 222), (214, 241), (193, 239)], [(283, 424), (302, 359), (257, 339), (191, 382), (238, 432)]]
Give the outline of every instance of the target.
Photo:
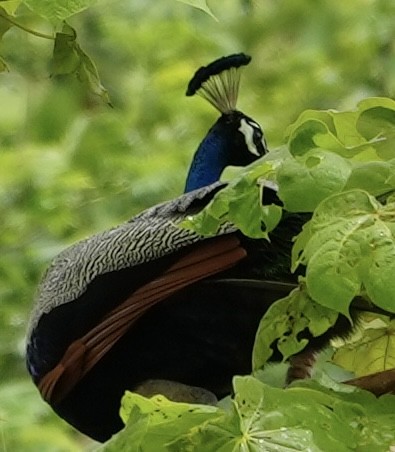
[(214, 126), (200, 143), (189, 169), (185, 193), (217, 182), (228, 163), (228, 145)]

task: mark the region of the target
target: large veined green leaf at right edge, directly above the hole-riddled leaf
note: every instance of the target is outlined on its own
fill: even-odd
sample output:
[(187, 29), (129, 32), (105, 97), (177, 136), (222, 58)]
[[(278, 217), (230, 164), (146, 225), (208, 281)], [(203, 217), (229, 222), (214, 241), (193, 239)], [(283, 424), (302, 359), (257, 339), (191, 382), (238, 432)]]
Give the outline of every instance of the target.
[(377, 306), (395, 312), (394, 209), (362, 190), (333, 195), (317, 207), (300, 259), (315, 301), (347, 315), (364, 287)]

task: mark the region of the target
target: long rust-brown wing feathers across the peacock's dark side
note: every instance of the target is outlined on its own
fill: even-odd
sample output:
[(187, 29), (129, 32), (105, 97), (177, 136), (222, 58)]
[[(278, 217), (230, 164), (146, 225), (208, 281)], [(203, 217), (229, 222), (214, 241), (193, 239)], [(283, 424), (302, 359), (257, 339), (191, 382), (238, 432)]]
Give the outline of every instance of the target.
[(59, 364), (39, 382), (42, 397), (49, 403), (60, 402), (149, 308), (186, 286), (233, 267), (245, 256), (237, 237), (226, 235), (203, 242), (181, 257), (70, 344)]

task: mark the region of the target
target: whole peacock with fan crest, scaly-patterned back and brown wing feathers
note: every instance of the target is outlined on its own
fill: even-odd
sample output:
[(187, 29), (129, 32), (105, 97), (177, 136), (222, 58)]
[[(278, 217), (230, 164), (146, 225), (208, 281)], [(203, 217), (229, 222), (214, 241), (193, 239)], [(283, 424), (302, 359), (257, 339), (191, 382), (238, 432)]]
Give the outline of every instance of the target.
[[(211, 238), (179, 227), (226, 186), (224, 168), (267, 152), (259, 124), (236, 109), (250, 60), (222, 57), (188, 85), (187, 96), (202, 96), (221, 116), (194, 155), (185, 193), (61, 252), (39, 286), (28, 371), (54, 411), (98, 441), (123, 427), (126, 389), (208, 404), (229, 394), (233, 375), (251, 372), (262, 315), (295, 285), (300, 216), (284, 216), (270, 242), (231, 224)], [(275, 190), (265, 197), (280, 202)]]

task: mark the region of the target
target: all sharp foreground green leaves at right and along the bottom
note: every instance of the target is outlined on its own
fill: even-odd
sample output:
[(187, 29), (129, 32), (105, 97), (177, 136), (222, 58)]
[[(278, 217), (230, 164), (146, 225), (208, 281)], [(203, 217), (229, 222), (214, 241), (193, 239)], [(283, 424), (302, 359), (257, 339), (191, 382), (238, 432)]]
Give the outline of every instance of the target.
[[(395, 102), (372, 98), (354, 111), (307, 111), (288, 133), (286, 146), (246, 168), (184, 227), (211, 235), (230, 221), (251, 237), (270, 238), (281, 208), (262, 208), (261, 194), (268, 181), (276, 183), (284, 212), (313, 215), (294, 246), (294, 269), (306, 267), (300, 287), (275, 302), (259, 326), (256, 375), (275, 341), (284, 359), (302, 351), (308, 341), (299, 334), (323, 334), (338, 313), (349, 315), (355, 297), (387, 316), (369, 313), (358, 340), (339, 345), (334, 362), (357, 375), (393, 369)], [(127, 393), (121, 415), (128, 428), (105, 450), (385, 451), (395, 444), (395, 396), (376, 399), (325, 371), (287, 389), (265, 379), (235, 377), (225, 408)]]

